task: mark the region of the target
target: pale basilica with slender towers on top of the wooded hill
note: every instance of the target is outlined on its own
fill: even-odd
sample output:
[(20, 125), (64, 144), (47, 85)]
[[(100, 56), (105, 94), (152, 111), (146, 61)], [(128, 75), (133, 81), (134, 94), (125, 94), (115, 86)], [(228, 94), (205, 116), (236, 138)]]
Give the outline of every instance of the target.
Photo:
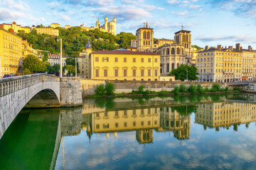
[(105, 32), (105, 33), (111, 33), (113, 35), (116, 35), (116, 23), (117, 23), (117, 20), (115, 18), (112, 19), (112, 21), (110, 22), (107, 22), (108, 21), (108, 18), (107, 18), (107, 15), (105, 16), (105, 23), (103, 24), (103, 26), (100, 26), (100, 21), (99, 19), (97, 19), (96, 21), (96, 25), (93, 26), (93, 27), (85, 27), (84, 24), (82, 24), (82, 26), (80, 26), (82, 29), (85, 29), (85, 30), (95, 30), (96, 28), (99, 29), (100, 31), (102, 32)]

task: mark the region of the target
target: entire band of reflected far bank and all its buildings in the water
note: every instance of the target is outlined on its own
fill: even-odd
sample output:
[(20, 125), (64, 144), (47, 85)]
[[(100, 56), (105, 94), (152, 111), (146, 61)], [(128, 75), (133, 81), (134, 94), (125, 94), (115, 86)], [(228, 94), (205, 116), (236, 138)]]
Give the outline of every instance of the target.
[[(192, 102), (194, 101), (194, 102)], [(198, 104), (200, 103), (200, 104)], [(140, 144), (154, 141), (156, 132), (173, 132), (178, 140), (189, 139), (191, 113), (195, 123), (208, 128), (238, 130), (256, 121), (255, 103), (230, 100), (227, 96), (174, 97), (174, 98), (114, 98), (112, 100), (87, 100), (82, 108), (82, 129), (91, 139), (94, 133), (136, 131)]]

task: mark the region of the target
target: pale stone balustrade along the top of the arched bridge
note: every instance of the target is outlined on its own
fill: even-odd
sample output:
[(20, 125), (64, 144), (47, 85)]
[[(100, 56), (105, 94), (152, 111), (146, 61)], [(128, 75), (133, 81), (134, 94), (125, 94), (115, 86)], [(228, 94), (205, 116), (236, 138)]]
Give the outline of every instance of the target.
[(39, 73), (0, 79), (0, 97), (44, 81), (60, 81), (60, 78), (49, 74)]

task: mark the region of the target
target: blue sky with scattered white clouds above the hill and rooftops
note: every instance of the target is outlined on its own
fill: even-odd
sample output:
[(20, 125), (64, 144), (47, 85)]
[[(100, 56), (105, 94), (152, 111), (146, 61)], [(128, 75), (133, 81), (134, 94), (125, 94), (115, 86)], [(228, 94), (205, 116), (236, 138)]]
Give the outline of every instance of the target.
[(192, 45), (217, 45), (256, 50), (256, 0), (0, 0), (0, 23), (21, 26), (50, 23), (95, 26), (107, 14), (117, 19), (117, 33), (135, 35), (147, 21), (154, 38), (174, 39), (174, 33), (191, 30)]

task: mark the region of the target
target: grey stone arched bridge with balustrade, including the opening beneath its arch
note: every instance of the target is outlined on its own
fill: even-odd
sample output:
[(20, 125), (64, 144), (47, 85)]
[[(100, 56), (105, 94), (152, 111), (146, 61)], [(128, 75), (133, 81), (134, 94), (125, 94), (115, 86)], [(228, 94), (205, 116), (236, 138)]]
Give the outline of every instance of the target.
[(60, 106), (59, 77), (31, 74), (0, 79), (0, 139), (21, 109), (33, 107), (36, 100), (43, 101), (41, 107)]

